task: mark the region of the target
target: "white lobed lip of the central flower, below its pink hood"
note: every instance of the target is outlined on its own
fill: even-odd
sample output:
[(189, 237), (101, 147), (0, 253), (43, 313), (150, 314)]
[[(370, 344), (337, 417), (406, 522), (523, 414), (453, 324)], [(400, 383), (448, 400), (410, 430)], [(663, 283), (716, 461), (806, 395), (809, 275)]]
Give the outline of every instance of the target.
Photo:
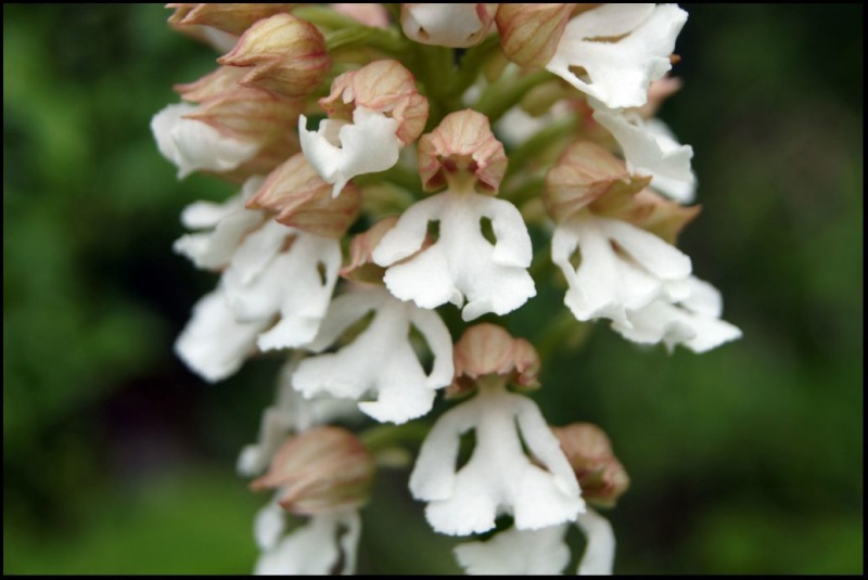
[[(492, 222), (496, 243), (483, 235), (481, 220)], [(418, 252), (427, 223), (439, 222), (439, 239)], [(452, 302), (465, 321), (486, 312), (506, 314), (536, 295), (527, 273), (532, 247), (519, 210), (502, 199), (472, 191), (447, 190), (407, 209), (380, 245), (373, 259), (390, 267), (384, 282), (401, 300), (421, 308)]]

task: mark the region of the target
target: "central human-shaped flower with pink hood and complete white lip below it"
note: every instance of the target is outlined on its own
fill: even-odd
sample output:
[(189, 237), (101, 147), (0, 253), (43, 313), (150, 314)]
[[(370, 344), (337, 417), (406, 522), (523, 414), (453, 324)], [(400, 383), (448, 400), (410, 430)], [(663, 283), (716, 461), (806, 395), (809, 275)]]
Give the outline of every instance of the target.
[[(421, 308), (463, 306), (464, 320), (506, 314), (536, 295), (526, 271), (532, 247), (521, 214), (508, 202), (474, 191), (497, 192), (506, 165), (503, 145), (488, 119), (474, 111), (447, 115), (422, 137), (424, 188), (448, 188), (407, 209), (374, 249), (374, 261), (388, 268), (384, 282), (393, 295)], [(494, 244), (484, 236), (482, 220), (490, 222)], [(419, 252), (430, 222), (439, 223), (438, 239)]]

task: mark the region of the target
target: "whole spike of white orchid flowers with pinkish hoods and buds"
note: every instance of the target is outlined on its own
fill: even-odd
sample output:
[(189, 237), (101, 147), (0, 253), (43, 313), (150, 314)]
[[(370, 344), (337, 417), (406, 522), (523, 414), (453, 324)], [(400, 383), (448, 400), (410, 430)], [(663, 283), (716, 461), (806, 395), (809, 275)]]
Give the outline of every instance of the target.
[(503, 323), (558, 280), (577, 321), (605, 319), (635, 343), (703, 352), (740, 336), (675, 245), (699, 212), (684, 205), (692, 149), (654, 114), (679, 87), (668, 72), (687, 14), (169, 8), (173, 27), (220, 55), (154, 116), (157, 146), (179, 178), (241, 189), (182, 215), (191, 233), (176, 252), (219, 282), (176, 351), (209, 382), (266, 352), (288, 358), (239, 460), (254, 490), (275, 490), (256, 518), (257, 572), (353, 572), (383, 451), (356, 427), (399, 429), (438, 391), (457, 402), (421, 442), (410, 491), (441, 533), (496, 531), (460, 543), (458, 562), (561, 572), (575, 524), (578, 571), (611, 572), (614, 536), (591, 505), (611, 507), (626, 472), (598, 427), (546, 423), (528, 396), (546, 361)]

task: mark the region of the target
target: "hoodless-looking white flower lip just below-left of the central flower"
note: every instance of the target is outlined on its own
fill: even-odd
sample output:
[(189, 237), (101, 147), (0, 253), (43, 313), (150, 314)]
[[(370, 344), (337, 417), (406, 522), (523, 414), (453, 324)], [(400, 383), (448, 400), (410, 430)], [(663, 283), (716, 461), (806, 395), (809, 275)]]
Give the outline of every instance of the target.
[[(376, 400), (360, 402), (359, 409), (381, 422), (404, 423), (427, 413), (436, 389), (452, 378), (452, 343), (436, 312), (398, 301), (385, 289), (344, 294), (332, 301), (308, 348), (323, 350), (370, 311), (373, 319), (352, 344), (302, 361), (295, 388), (306, 397), (328, 392), (354, 400), (370, 391)], [(411, 326), (434, 355), (427, 375), (409, 341)]]

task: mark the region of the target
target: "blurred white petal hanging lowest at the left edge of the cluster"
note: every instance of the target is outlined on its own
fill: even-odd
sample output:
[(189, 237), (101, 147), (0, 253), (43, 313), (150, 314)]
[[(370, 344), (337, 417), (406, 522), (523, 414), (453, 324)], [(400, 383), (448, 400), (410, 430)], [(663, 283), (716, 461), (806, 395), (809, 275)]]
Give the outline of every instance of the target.
[(235, 320), (224, 292), (218, 288), (193, 307), (193, 317), (178, 336), (175, 351), (206, 381), (222, 381), (256, 350), (256, 336), (267, 325), (267, 320)]

